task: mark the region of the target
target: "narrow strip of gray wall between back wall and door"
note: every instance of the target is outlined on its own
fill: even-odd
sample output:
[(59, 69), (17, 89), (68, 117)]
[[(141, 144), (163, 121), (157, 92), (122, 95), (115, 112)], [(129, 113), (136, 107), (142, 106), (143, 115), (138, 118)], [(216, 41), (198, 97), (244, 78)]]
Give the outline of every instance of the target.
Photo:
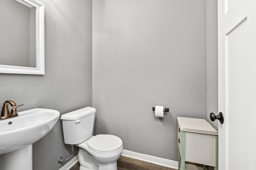
[(218, 16), (217, 0), (206, 0), (206, 119), (218, 129), (218, 121), (210, 120), (210, 113), (218, 115)]

